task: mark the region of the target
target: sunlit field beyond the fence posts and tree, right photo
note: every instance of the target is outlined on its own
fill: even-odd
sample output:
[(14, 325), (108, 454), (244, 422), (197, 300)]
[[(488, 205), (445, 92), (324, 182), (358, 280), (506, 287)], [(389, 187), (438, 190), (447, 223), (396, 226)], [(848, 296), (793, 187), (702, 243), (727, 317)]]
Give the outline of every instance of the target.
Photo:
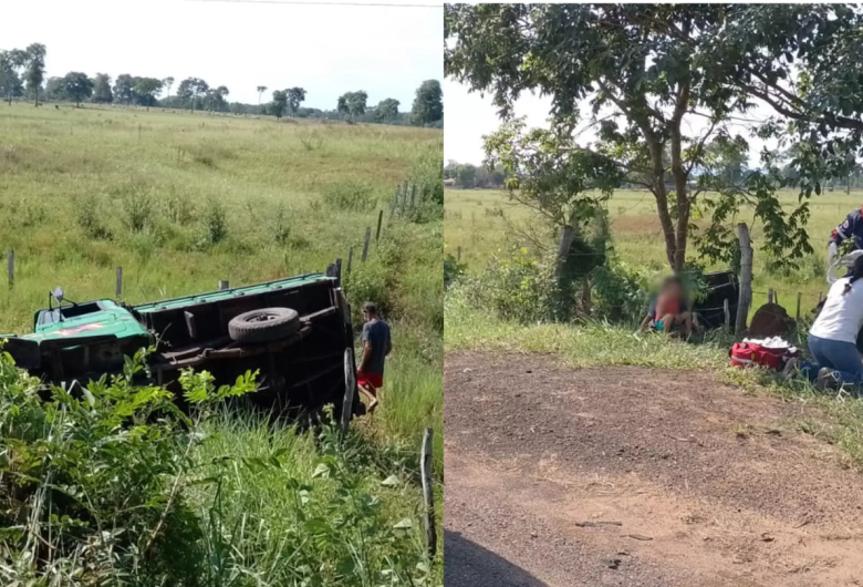
[[(787, 192), (781, 198), (790, 207), (797, 203), (797, 193)], [(506, 230), (507, 224), (501, 213), (510, 222), (522, 225), (536, 218), (533, 210), (510, 203), (506, 192), (447, 189), (445, 202), (444, 238), (447, 251), (456, 255), (458, 247), (461, 247), (461, 260), (471, 269), (481, 268), (491, 255), (506, 246), (508, 239), (514, 244), (524, 244)], [(792, 315), (798, 291), (803, 295), (801, 312), (812, 309), (818, 302), (819, 292), (826, 292), (824, 269), (830, 231), (861, 203), (863, 190), (852, 190), (851, 194), (844, 190), (828, 192), (810, 202), (808, 229), (815, 254), (804, 259), (801, 269), (791, 276), (769, 275), (765, 270), (763, 256), (758, 250), (761, 233), (757, 222), (753, 222), (751, 214), (741, 217), (752, 228), (753, 309), (767, 301), (769, 288), (778, 292), (779, 301)], [(653, 196), (648, 192), (618, 190), (609, 202), (607, 210), (613, 245), (618, 257), (624, 262), (648, 267), (657, 274), (667, 272), (665, 245)], [(694, 255), (695, 250), (690, 248), (689, 256)]]

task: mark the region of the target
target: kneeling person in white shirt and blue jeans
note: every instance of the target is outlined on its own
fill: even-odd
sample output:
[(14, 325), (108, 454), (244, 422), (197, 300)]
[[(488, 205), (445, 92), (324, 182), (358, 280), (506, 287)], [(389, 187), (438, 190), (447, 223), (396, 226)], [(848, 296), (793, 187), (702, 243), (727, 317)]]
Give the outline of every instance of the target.
[(857, 257), (849, 277), (838, 279), (830, 287), (824, 307), (809, 329), (809, 351), (817, 362), (790, 360), (786, 375), (799, 369), (822, 390), (833, 383), (863, 387), (863, 357), (856, 347), (861, 327), (863, 257)]

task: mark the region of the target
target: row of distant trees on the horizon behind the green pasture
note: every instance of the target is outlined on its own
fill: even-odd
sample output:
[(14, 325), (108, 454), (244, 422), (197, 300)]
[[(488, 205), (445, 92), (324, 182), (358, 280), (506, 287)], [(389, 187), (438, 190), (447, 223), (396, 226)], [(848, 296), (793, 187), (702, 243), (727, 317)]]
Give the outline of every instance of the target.
[(444, 99), (440, 82), (427, 80), (416, 90), (410, 112), (401, 112), (398, 100), (388, 97), (370, 105), (368, 94), (352, 91), (342, 94), (333, 110), (303, 107), (306, 90), (294, 86), (274, 90), (271, 100), (262, 103), (268, 91), (264, 85), (256, 87), (258, 104), (229, 102), (230, 91), (225, 85), (211, 86), (199, 78), (181, 80), (176, 92), (171, 89), (176, 80), (171, 76), (157, 79), (128, 73), (113, 80), (106, 73), (90, 78), (72, 71), (63, 76), (45, 80), (45, 45), (33, 43), (27, 49), (0, 50), (0, 95), (10, 105), (13, 100), (32, 100), (35, 106), (41, 102), (84, 102), (94, 104), (119, 104), (194, 111), (221, 112), (238, 115), (272, 115), (277, 119), (316, 117), (347, 120), (350, 122), (374, 122), (384, 124), (410, 124), (416, 126), (443, 127)]

